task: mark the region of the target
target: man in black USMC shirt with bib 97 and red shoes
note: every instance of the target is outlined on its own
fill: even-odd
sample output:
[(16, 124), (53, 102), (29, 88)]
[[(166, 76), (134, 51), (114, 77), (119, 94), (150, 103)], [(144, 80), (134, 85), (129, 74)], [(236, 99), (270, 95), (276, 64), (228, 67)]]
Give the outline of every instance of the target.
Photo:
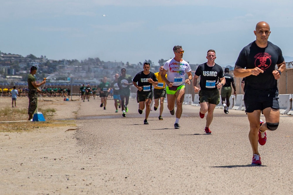
[[(223, 69), (215, 63), (216, 58), (214, 50), (207, 51), (207, 62), (197, 67), (193, 79), (194, 92), (199, 92), (200, 97), (200, 118), (204, 118), (207, 112), (206, 134), (212, 134), (209, 125), (214, 117), (214, 109), (220, 103), (219, 89), (225, 84)], [(198, 77), (200, 77), (200, 88), (196, 87)]]

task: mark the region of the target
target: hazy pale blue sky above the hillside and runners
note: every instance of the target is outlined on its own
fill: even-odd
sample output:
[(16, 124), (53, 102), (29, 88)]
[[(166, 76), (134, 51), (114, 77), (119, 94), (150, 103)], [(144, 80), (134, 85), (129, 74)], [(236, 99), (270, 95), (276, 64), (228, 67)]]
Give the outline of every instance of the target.
[(158, 65), (182, 45), (191, 64), (214, 49), (216, 63), (228, 65), (266, 21), (269, 41), (293, 57), (292, 10), (292, 0), (1, 0), (0, 51)]

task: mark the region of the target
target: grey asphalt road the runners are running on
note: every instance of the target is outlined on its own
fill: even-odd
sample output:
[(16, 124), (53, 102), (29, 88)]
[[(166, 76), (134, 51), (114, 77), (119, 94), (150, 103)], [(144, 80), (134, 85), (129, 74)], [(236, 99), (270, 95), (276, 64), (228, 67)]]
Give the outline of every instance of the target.
[[(292, 116), (281, 115), (278, 130), (267, 132), (259, 145), (262, 166), (252, 166), (249, 124), (244, 111), (215, 109), (204, 132), (205, 118), (199, 107), (183, 105), (180, 129), (174, 129), (167, 103), (144, 113), (130, 100), (127, 117), (115, 113), (113, 100), (107, 110), (99, 100), (85, 102), (78, 112), (75, 133), (83, 155), (93, 156), (88, 165), (98, 194), (293, 194)], [(264, 116), (261, 118), (265, 121)]]

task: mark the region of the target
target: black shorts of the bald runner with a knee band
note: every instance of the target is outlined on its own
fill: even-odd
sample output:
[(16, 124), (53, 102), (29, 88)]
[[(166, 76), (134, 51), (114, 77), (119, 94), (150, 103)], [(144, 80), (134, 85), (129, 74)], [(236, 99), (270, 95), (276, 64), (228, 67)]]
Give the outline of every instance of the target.
[(279, 91), (275, 89), (258, 90), (246, 89), (244, 93), (244, 105), (247, 113), (255, 110), (263, 111), (265, 108), (280, 109)]

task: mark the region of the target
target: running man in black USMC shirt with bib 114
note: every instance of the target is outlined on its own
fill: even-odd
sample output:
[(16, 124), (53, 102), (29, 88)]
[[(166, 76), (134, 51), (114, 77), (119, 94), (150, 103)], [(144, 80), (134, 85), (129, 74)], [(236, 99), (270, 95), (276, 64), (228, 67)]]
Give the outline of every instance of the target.
[(148, 62), (144, 63), (144, 70), (139, 72), (133, 78), (133, 84), (138, 89), (137, 90), (137, 103), (138, 112), (142, 114), (144, 105), (146, 107), (146, 117), (144, 119), (144, 125), (148, 125), (147, 118), (150, 113), (151, 100), (153, 99), (152, 85), (158, 84), (158, 79), (153, 72), (149, 71), (150, 64)]

